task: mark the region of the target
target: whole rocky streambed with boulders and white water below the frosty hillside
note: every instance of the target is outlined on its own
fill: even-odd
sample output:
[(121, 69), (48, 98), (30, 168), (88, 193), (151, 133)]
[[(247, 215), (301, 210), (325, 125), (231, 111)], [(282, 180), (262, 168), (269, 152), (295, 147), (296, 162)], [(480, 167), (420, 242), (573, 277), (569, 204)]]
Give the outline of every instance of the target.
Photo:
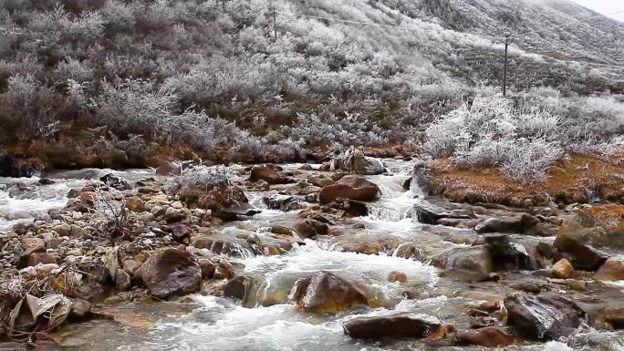
[[(73, 305), (65, 326), (23, 331), (26, 340), (67, 350), (622, 346), (620, 205), (450, 202), (419, 185), (414, 161), (361, 162), (233, 166), (201, 189), (155, 170), (4, 179), (3, 282), (19, 277), (20, 289)], [(96, 211), (102, 199), (123, 204), (119, 231)]]

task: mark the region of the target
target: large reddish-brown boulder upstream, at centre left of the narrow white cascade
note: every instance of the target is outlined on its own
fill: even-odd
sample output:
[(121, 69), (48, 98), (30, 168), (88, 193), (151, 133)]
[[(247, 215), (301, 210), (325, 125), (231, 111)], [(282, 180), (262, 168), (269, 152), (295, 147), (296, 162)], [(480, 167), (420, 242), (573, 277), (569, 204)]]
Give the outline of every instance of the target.
[(356, 201), (373, 201), (377, 198), (380, 188), (367, 181), (364, 177), (348, 175), (342, 177), (336, 184), (323, 187), (319, 193), (321, 203), (336, 201), (336, 199), (348, 199)]

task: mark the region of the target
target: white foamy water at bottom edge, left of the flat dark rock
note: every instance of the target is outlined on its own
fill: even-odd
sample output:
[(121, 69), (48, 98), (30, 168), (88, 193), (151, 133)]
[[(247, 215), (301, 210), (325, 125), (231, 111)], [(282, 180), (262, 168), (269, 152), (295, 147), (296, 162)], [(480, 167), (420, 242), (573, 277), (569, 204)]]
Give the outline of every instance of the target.
[[(342, 320), (325, 321), (296, 312), (294, 305), (244, 308), (213, 296), (198, 296), (203, 304), (178, 323), (155, 325), (155, 345), (133, 350), (344, 350), (365, 348), (350, 342), (342, 331)], [(369, 347), (367, 350), (381, 350)]]

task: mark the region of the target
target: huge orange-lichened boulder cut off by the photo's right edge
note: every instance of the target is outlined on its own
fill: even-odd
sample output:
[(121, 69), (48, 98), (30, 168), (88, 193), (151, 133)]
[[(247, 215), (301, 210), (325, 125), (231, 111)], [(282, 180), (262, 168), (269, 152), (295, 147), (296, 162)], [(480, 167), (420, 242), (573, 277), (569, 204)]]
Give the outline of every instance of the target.
[(624, 206), (591, 206), (564, 222), (555, 248), (578, 270), (595, 271), (611, 256), (624, 253)]

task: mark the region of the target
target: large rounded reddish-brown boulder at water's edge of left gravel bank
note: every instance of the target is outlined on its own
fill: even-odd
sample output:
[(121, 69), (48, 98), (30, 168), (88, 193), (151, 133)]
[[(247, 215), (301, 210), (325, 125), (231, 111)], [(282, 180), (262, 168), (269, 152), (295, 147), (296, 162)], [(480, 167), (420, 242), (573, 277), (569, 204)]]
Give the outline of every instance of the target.
[(140, 271), (150, 294), (161, 299), (195, 292), (202, 281), (202, 269), (192, 254), (173, 248), (152, 253)]

